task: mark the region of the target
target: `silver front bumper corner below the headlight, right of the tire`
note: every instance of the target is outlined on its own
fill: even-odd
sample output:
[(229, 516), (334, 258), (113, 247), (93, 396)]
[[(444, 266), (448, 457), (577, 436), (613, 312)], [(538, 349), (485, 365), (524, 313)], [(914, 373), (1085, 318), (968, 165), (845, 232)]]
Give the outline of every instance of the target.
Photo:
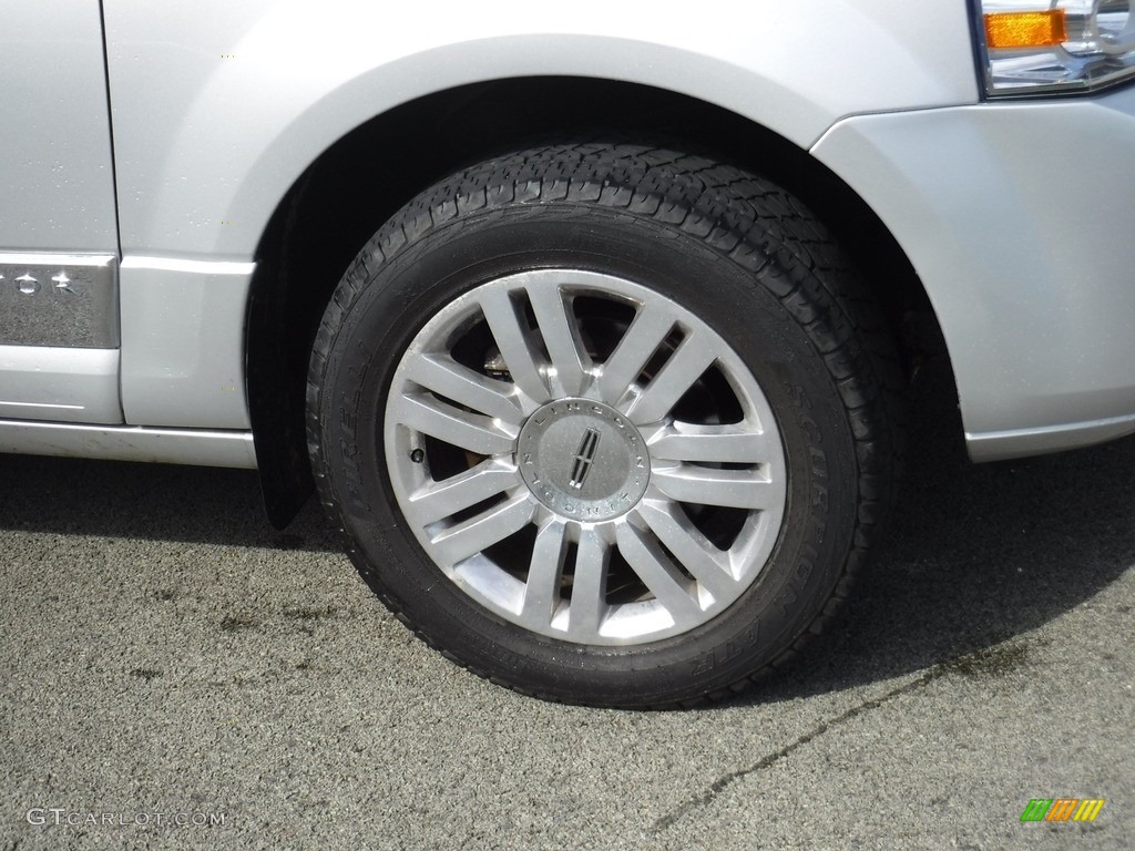
[(1135, 413), (1133, 150), (1135, 89), (850, 118), (813, 149), (914, 262), (975, 458)]

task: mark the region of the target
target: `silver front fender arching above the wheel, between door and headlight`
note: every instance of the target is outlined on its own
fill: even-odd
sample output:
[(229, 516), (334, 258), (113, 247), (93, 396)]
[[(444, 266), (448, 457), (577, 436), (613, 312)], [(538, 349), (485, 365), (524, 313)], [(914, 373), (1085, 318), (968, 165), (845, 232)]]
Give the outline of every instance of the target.
[(251, 260), (284, 193), (339, 137), (478, 81), (654, 85), (801, 146), (847, 115), (977, 99), (960, 0), (756, 0), (680, 18), (602, 0), (570, 14), (520, 0), (104, 8), (126, 255)]

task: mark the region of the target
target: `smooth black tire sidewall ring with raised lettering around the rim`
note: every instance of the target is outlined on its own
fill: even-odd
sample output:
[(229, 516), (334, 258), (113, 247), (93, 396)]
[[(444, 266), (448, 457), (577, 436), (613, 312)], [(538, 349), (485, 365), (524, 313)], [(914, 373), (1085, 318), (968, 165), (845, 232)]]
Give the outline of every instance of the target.
[[(389, 245), (390, 235), (380, 231), (375, 242)], [(858, 473), (835, 381), (805, 327), (749, 269), (653, 219), (573, 203), (466, 214), (384, 254), (348, 275), (356, 295), (343, 305), (314, 412), (331, 499), (354, 542), (352, 557), (379, 596), (473, 669), (523, 691), (582, 702), (628, 692), (645, 703), (693, 699), (790, 650), (847, 561)], [(788, 469), (777, 542), (742, 596), (695, 630), (629, 647), (527, 632), (452, 582), (402, 519), (382, 446), (398, 360), (457, 296), (540, 268), (605, 272), (673, 300), (729, 343), (774, 412)]]

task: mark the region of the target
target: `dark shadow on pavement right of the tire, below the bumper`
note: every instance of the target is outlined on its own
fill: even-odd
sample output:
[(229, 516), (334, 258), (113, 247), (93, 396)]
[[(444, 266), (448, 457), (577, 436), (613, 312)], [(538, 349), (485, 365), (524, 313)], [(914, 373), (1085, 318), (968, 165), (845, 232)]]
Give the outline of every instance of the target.
[(1008, 673), (1012, 665), (990, 648), (1009, 642), (1014, 664), (1027, 662), (1022, 633), (1135, 566), (1135, 438), (973, 464), (952, 378), (934, 372), (915, 393), (890, 531), (842, 618), (787, 676), (745, 701), (839, 691), (967, 655), (969, 673), (984, 663), (985, 673)]

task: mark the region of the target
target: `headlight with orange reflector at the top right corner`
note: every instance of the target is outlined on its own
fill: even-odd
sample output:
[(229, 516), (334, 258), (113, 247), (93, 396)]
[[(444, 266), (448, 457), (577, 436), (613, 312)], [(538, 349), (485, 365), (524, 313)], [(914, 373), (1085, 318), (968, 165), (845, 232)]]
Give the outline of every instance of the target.
[(985, 91), (1084, 92), (1135, 77), (1133, 0), (976, 0)]

